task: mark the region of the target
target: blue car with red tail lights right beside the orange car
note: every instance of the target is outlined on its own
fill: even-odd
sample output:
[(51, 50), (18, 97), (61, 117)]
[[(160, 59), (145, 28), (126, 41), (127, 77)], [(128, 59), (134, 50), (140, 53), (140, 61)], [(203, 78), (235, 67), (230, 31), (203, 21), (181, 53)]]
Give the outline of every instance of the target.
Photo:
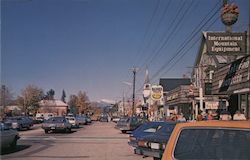
[(135, 153), (160, 160), (175, 125), (176, 122), (153, 122), (150, 128), (144, 130), (151, 134), (144, 134), (138, 138)]

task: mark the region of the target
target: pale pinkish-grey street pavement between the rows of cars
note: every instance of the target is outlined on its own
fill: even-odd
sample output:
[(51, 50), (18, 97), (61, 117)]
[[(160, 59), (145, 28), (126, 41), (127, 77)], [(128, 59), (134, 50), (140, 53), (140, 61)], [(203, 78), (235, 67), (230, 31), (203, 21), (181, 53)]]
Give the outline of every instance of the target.
[(45, 134), (40, 126), (32, 130), (19, 131), (14, 151), (2, 153), (8, 160), (49, 160), (49, 159), (88, 159), (88, 160), (138, 160), (152, 159), (135, 155), (127, 144), (128, 134), (114, 128), (113, 122), (93, 122), (71, 133)]

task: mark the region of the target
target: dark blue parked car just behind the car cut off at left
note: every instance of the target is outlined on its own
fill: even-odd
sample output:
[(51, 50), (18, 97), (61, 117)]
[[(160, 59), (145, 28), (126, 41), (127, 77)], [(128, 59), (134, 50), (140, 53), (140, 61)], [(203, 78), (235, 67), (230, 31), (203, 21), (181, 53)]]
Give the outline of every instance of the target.
[(30, 129), (33, 126), (33, 120), (26, 116), (7, 117), (4, 123), (17, 130)]

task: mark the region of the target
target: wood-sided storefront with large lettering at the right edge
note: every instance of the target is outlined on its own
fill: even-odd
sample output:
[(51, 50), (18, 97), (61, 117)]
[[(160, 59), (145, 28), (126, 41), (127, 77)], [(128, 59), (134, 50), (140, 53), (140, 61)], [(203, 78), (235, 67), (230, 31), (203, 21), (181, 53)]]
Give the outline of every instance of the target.
[(217, 69), (212, 82), (212, 94), (228, 95), (228, 110), (241, 110), (250, 118), (250, 56), (242, 57)]

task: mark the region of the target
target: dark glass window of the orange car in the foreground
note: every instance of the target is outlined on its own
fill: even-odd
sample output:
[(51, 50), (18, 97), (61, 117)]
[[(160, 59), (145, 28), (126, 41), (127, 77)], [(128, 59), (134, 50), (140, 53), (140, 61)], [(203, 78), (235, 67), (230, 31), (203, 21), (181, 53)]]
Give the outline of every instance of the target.
[[(188, 147), (187, 147), (188, 144)], [(184, 129), (174, 150), (176, 159), (249, 159), (250, 130)]]

